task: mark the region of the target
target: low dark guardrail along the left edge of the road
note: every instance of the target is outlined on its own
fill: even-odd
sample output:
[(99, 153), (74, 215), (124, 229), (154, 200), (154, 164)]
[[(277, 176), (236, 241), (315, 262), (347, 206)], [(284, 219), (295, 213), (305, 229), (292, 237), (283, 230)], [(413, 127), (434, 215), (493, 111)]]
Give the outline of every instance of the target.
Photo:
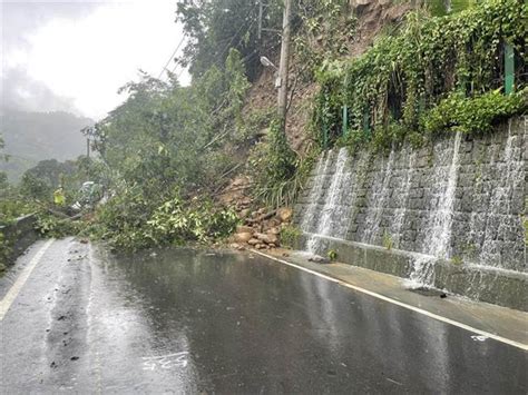
[(0, 249), (3, 249), (0, 251), (0, 266), (14, 264), (17, 258), (39, 238), (35, 230), (36, 221), (36, 215), (30, 214), (17, 218), (12, 224), (0, 226), (2, 234)]

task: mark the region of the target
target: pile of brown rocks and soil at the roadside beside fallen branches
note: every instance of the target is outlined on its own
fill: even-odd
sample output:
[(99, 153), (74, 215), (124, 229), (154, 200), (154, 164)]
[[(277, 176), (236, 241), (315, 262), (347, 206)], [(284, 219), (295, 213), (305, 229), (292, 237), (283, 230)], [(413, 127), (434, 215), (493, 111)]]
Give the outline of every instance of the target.
[(292, 216), (293, 210), (289, 207), (272, 211), (261, 208), (251, 213), (245, 218), (244, 225), (236, 228), (235, 235), (231, 238), (231, 247), (236, 249), (278, 247), (281, 229), (291, 223)]

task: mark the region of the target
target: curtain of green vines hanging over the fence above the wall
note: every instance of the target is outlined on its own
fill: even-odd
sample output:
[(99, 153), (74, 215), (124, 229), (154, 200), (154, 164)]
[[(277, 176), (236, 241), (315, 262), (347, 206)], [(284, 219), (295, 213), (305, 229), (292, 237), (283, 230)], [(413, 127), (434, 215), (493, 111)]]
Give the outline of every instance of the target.
[[(360, 58), (322, 65), (313, 116), (315, 130), (327, 130), (330, 140), (335, 141), (343, 105), (349, 107), (351, 140), (358, 144), (374, 139), (380, 145), (404, 139), (408, 132), (418, 140), (415, 134), (423, 134), (421, 116), (448, 97), (443, 106), (449, 107), (457, 95), (470, 98), (468, 102), (478, 100), (463, 107), (478, 110), (472, 121), (480, 130), (489, 129), (505, 113), (512, 115), (514, 109), (516, 113), (522, 111), (519, 102), (514, 103), (516, 99), (483, 93), (502, 87), (505, 42), (511, 43), (517, 55), (517, 89), (526, 86), (527, 24), (522, 16), (527, 12), (528, 4), (522, 1), (486, 0), (443, 18), (408, 14), (395, 36), (380, 38)], [(492, 110), (492, 103), (500, 106)], [(443, 113), (442, 124), (470, 118), (459, 112), (459, 119), (448, 120), (450, 116)]]

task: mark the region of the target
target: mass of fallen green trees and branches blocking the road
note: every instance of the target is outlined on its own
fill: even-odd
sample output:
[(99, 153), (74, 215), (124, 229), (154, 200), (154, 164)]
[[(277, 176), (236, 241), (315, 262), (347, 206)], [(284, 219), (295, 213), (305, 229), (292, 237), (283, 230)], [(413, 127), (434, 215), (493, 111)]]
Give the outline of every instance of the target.
[(135, 250), (232, 233), (235, 214), (215, 207), (208, 196), (233, 168), (232, 147), (245, 139), (239, 130), (246, 128), (248, 87), (234, 49), (223, 68), (209, 67), (190, 87), (180, 87), (174, 76), (164, 82), (146, 73), (127, 83), (127, 100), (86, 131), (101, 160), (80, 161), (78, 168), (113, 197), (80, 234)]

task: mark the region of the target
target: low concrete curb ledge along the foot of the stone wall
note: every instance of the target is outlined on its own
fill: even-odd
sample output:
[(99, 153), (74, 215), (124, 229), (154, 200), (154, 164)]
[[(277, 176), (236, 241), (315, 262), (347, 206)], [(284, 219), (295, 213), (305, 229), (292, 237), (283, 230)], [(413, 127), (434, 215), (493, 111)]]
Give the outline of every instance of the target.
[[(325, 256), (326, 251), (332, 249), (338, 254), (340, 263), (402, 278), (409, 278), (413, 261), (421, 256), (417, 253), (389, 250), (379, 246), (306, 233), (300, 237), (296, 247), (302, 249), (309, 237), (314, 237), (320, 241), (316, 254), (321, 256)], [(436, 288), (471, 299), (528, 312), (528, 274), (437, 260), (433, 277)]]

